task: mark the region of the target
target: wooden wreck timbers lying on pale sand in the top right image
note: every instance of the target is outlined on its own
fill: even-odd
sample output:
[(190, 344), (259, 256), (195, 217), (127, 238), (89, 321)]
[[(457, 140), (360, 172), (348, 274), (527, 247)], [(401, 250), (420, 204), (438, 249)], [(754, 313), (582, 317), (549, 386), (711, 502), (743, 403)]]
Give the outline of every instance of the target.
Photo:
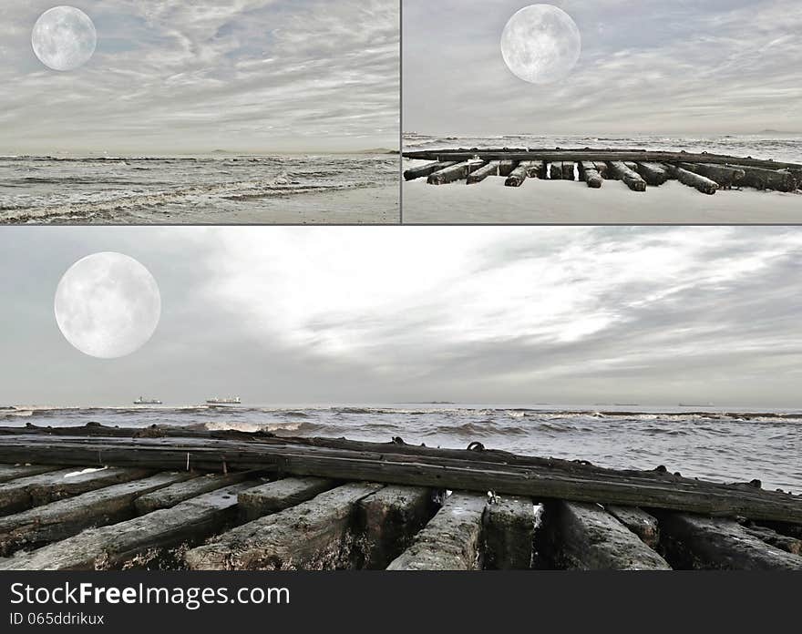
[(407, 169), (406, 180), (426, 178), (431, 185), (463, 181), (476, 184), (502, 177), (508, 187), (527, 179), (579, 180), (601, 189), (605, 180), (621, 180), (632, 191), (659, 187), (668, 180), (715, 194), (719, 189), (750, 187), (793, 192), (802, 188), (802, 165), (721, 154), (693, 154), (639, 149), (433, 149), (404, 152), (431, 161)]

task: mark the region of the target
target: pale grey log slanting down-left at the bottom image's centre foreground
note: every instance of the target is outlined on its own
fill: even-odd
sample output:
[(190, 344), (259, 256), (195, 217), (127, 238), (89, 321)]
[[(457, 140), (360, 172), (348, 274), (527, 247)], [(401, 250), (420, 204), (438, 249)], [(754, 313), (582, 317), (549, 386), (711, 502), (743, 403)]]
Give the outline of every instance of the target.
[(482, 568), (482, 522), (487, 494), (455, 491), (387, 570)]

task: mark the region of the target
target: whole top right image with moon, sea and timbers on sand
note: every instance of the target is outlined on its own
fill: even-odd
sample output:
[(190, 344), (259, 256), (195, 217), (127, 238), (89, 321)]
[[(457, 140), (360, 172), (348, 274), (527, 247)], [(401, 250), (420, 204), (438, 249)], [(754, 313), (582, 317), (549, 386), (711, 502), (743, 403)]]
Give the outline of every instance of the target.
[(794, 0), (405, 0), (404, 220), (798, 223), (800, 26)]

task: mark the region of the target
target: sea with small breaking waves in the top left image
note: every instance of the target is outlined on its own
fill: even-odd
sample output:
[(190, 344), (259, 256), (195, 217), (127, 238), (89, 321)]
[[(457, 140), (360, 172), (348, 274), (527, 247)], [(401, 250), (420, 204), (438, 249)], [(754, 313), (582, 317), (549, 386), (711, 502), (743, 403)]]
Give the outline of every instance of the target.
[(392, 154), (0, 157), (0, 222), (397, 222), (397, 182)]

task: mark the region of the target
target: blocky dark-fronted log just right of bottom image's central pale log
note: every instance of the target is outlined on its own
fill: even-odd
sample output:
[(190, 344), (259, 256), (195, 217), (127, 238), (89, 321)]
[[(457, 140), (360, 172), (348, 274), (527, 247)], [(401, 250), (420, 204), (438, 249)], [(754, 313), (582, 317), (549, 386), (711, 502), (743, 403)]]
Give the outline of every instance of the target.
[(491, 501), (484, 516), (484, 568), (530, 568), (534, 537), (535, 509), (529, 497)]

